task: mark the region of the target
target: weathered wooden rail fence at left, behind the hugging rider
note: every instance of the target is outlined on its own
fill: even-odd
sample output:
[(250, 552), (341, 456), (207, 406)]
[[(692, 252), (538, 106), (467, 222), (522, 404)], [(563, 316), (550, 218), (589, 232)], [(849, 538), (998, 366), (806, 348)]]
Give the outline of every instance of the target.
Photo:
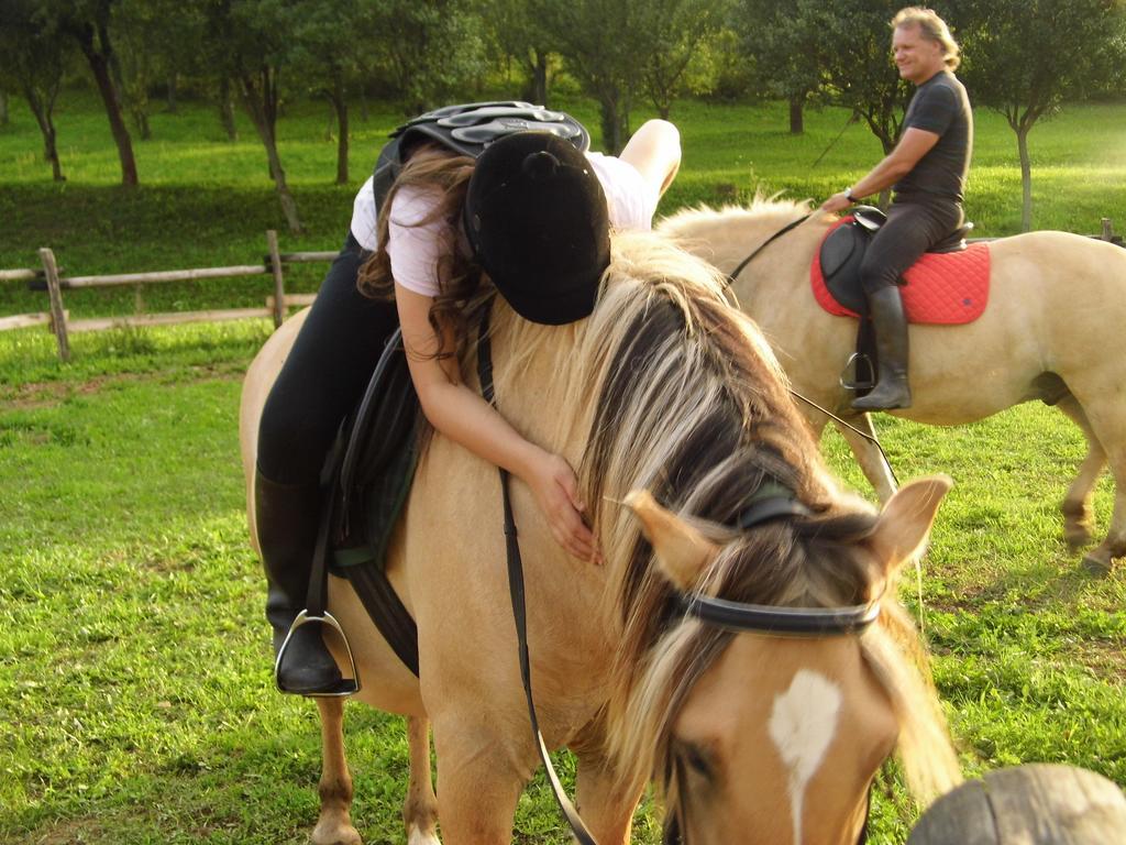
[[(123, 273), (106, 276), (66, 276), (59, 270), (54, 252), (44, 247), (39, 250), (42, 269), (0, 270), (0, 282), (26, 281), (32, 285), (45, 283), (51, 300), (51, 310), (35, 314), (15, 314), (0, 318), (0, 331), (19, 329), (27, 326), (47, 326), (59, 343), (59, 357), (70, 361), (70, 335), (78, 331), (98, 331), (101, 329), (127, 326), (172, 326), (187, 322), (220, 322), (223, 320), (244, 320), (253, 317), (274, 319), (275, 326), (285, 320), (287, 310), (293, 305), (310, 304), (315, 294), (286, 294), (284, 268), (287, 264), (306, 264), (312, 261), (331, 261), (337, 252), (282, 252), (278, 249), (277, 232), (266, 233), (267, 255), (261, 264), (238, 265), (234, 267), (198, 267), (184, 270), (158, 270), (153, 273)], [(83, 287), (114, 287), (132, 285), (158, 284), (161, 282), (190, 282), (202, 278), (236, 278), (241, 276), (270, 276), (272, 293), (266, 297), (263, 308), (240, 308), (215, 311), (175, 311), (154, 314), (129, 314), (87, 320), (71, 320), (70, 312), (63, 308), (63, 291), (75, 291)]]

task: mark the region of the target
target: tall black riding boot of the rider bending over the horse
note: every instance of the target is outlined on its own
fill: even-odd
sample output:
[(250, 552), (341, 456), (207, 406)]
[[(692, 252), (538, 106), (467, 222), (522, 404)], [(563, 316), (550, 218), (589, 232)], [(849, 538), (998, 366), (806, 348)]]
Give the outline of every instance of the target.
[[(274, 626), (275, 655), (289, 625), (305, 608), (320, 512), (318, 484), (280, 484), (256, 470), (254, 515), (268, 585), (266, 619)], [(283, 692), (310, 695), (339, 686), (340, 669), (324, 646), (321, 628), (309, 624), (293, 632), (277, 671)]]

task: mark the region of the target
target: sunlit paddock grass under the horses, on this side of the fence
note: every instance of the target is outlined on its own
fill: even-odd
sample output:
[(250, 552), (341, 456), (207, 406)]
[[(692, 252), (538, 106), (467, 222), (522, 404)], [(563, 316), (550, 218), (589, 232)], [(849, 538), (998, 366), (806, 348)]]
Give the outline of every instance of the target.
[[(239, 379), (267, 331), (106, 332), (120, 355), (5, 388), (0, 842), (297, 843), (315, 819), (315, 711), (271, 690), (242, 510)], [(1126, 784), (1126, 580), (1082, 575), (1055, 510), (1078, 433), (1026, 406), (950, 430), (887, 420), (883, 439), (901, 478), (957, 481), (922, 616), (967, 774), (1054, 760)], [(842, 441), (826, 450), (864, 489)], [(1096, 506), (1105, 526), (1106, 481)], [(911, 577), (904, 595), (918, 607)], [(349, 708), (348, 747), (359, 829), (400, 842), (401, 722)], [(888, 789), (876, 840), (902, 842)], [(565, 840), (540, 781), (518, 828)], [(650, 810), (638, 830), (659, 840)]]

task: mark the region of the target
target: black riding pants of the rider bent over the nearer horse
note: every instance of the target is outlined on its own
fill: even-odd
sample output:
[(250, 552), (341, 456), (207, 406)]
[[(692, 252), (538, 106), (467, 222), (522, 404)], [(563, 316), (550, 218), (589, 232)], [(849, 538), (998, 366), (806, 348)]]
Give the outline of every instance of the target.
[(272, 481), (318, 480), (340, 421), (399, 326), (394, 301), (369, 300), (356, 290), (367, 256), (349, 232), (266, 400), (258, 468)]

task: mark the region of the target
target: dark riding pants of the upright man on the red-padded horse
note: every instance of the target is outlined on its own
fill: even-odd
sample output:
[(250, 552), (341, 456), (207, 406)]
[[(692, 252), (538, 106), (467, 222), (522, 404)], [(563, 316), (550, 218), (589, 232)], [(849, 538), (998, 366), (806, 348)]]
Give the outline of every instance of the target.
[(962, 225), (962, 206), (953, 201), (915, 202), (896, 197), (887, 222), (876, 232), (860, 264), (866, 294), (899, 283), (922, 254)]

